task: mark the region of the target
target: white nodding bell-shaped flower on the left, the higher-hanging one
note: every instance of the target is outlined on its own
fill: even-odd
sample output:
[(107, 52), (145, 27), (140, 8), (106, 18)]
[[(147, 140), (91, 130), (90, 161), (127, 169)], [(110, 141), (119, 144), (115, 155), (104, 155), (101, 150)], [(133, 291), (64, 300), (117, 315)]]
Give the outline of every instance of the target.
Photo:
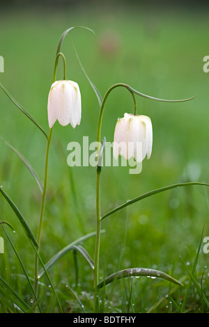
[(73, 128), (80, 124), (82, 118), (82, 99), (79, 86), (75, 81), (55, 81), (48, 97), (49, 128), (56, 120), (62, 126), (69, 123)]

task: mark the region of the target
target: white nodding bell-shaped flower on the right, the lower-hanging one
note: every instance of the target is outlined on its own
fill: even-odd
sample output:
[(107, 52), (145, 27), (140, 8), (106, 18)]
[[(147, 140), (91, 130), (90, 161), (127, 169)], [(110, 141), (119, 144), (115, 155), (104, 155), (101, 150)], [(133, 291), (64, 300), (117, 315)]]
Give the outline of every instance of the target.
[(141, 162), (150, 155), (153, 147), (153, 127), (150, 118), (146, 115), (125, 113), (118, 119), (114, 132), (114, 158), (118, 155), (129, 160), (131, 157)]

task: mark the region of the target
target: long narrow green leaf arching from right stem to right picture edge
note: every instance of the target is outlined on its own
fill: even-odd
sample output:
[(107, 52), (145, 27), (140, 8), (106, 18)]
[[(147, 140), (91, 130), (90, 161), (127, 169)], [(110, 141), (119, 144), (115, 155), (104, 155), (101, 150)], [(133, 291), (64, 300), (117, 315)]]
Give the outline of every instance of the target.
[(130, 201), (127, 201), (127, 202), (123, 203), (123, 205), (119, 205), (115, 209), (112, 209), (110, 212), (107, 212), (107, 214), (104, 214), (104, 216), (101, 217), (101, 220), (106, 218), (107, 216), (110, 216), (111, 214), (114, 214), (114, 212), (118, 212), (119, 210), (127, 207), (128, 205), (132, 205), (133, 203), (138, 202), (140, 200), (143, 200), (145, 198), (148, 198), (149, 196), (154, 196), (157, 193), (168, 191), (170, 189), (175, 189), (176, 187), (191, 186), (191, 185), (209, 186), (209, 184), (200, 183), (200, 182), (188, 182), (188, 183), (180, 183), (180, 184), (173, 184), (173, 185), (169, 185), (169, 186), (164, 186), (164, 187), (162, 187), (160, 189), (155, 189), (153, 191), (144, 193), (141, 196), (138, 196), (137, 198), (134, 198), (133, 200), (130, 200)]

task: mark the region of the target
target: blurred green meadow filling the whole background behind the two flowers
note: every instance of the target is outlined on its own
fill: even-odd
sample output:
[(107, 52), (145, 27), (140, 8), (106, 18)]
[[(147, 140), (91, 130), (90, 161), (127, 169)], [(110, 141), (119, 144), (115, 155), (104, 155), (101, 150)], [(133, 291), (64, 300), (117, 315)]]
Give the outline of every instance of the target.
[[(0, 55), (4, 58), (0, 82), (47, 134), (47, 97), (59, 39), (71, 26), (86, 26), (95, 32), (75, 29), (61, 48), (67, 78), (79, 84), (82, 94), (82, 121), (75, 129), (58, 122), (53, 128), (40, 242), (44, 264), (96, 228), (96, 167), (68, 166), (67, 146), (78, 142), (83, 150), (84, 136), (89, 143), (96, 141), (100, 106), (70, 39), (102, 97), (115, 83), (162, 99), (196, 95), (179, 103), (155, 102), (136, 95), (138, 114), (147, 115), (153, 124), (153, 152), (149, 160), (144, 159), (140, 174), (130, 174), (128, 166), (102, 167), (101, 215), (164, 186), (209, 183), (209, 73), (203, 72), (203, 58), (209, 56), (207, 10), (19, 8), (2, 10), (0, 19)], [(60, 60), (56, 79), (62, 78)], [(43, 182), (47, 139), (1, 88), (0, 108), (0, 185), (36, 237), (41, 192), (8, 143)], [(118, 118), (133, 109), (127, 90), (116, 88), (105, 104), (101, 138), (113, 142)], [(92, 153), (89, 150), (89, 155)], [(100, 312), (208, 312), (209, 253), (203, 241), (209, 237), (208, 192), (208, 186), (203, 185), (169, 189), (102, 220), (100, 281), (116, 271), (139, 267), (163, 271), (183, 286), (150, 276), (114, 280), (100, 290)], [(61, 308), (63, 312), (94, 312), (93, 271), (89, 260), (75, 247), (47, 269), (53, 287), (47, 274), (42, 274), (37, 305), (30, 287), (35, 250), (1, 193), (0, 221), (4, 240), (4, 253), (0, 254), (1, 313), (60, 312)], [(80, 245), (94, 257), (94, 234)]]

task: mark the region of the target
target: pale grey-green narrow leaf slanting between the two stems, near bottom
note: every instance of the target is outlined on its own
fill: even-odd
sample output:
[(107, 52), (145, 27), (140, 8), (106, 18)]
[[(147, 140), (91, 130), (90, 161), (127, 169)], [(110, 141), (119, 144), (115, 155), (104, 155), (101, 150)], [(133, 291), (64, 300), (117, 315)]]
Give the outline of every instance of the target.
[[(104, 232), (104, 230), (102, 230), (101, 232)], [(91, 237), (95, 236), (95, 232), (91, 232), (89, 234), (84, 235), (83, 237), (80, 237), (79, 239), (77, 239), (76, 241), (68, 244), (68, 246), (65, 246), (65, 248), (63, 248), (62, 250), (60, 250), (58, 253), (56, 253), (56, 255), (54, 255), (48, 262), (47, 264), (45, 264), (45, 269), (49, 269), (51, 266), (53, 266), (55, 264), (55, 262), (57, 260), (59, 260), (61, 257), (63, 257), (63, 255), (65, 255), (66, 253), (68, 253), (70, 250), (73, 250), (74, 246), (76, 246), (77, 244), (81, 244), (83, 241), (85, 241), (86, 239), (90, 239)], [(38, 273), (39, 278), (45, 273), (45, 271), (43, 269), (40, 270), (40, 272)]]

